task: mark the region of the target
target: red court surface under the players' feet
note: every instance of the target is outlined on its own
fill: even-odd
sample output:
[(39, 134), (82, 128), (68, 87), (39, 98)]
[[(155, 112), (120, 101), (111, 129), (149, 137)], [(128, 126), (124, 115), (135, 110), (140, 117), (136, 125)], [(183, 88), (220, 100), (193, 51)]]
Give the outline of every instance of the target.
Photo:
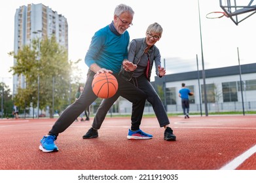
[(164, 141), (156, 118), (143, 118), (149, 140), (128, 140), (129, 118), (106, 118), (96, 139), (90, 122), (74, 122), (43, 153), (54, 119), (0, 120), (1, 170), (256, 170), (256, 116), (172, 117), (177, 141)]

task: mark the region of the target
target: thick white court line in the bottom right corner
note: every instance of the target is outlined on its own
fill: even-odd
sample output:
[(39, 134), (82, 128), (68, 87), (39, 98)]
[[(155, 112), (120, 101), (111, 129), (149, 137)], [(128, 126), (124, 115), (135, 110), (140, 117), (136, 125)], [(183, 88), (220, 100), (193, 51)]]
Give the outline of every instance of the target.
[(246, 161), (247, 158), (255, 154), (256, 152), (256, 145), (249, 148), (246, 152), (241, 154), (240, 156), (234, 158), (232, 161), (227, 163), (227, 165), (221, 167), (220, 170), (235, 170), (237, 167), (239, 167), (244, 161)]

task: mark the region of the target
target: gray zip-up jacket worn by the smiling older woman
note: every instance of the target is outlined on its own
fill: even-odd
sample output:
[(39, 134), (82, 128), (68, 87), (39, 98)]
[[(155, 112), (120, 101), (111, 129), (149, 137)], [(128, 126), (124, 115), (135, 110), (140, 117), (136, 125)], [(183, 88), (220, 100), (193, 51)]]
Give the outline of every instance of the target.
[[(147, 44), (145, 42), (145, 38), (133, 39), (129, 44), (128, 51), (128, 60), (132, 61), (134, 64), (139, 63), (141, 56), (143, 56), (145, 49), (147, 48)], [(161, 56), (158, 48), (153, 45), (149, 50), (149, 59), (150, 59), (150, 67), (149, 67), (149, 78), (151, 76), (151, 70), (153, 67), (153, 62), (155, 61), (156, 75), (158, 75), (158, 65), (161, 66)], [(136, 70), (134, 71), (136, 73)]]

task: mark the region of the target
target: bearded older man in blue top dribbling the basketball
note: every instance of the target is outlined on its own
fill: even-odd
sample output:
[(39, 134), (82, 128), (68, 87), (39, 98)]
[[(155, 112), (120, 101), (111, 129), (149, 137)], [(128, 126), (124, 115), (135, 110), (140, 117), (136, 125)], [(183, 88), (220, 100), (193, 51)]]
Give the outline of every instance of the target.
[[(141, 137), (152, 138), (152, 135), (144, 133), (139, 129), (147, 95), (118, 75), (122, 62), (128, 58), (130, 35), (126, 29), (132, 25), (133, 18), (134, 10), (127, 5), (120, 4), (115, 8), (111, 24), (96, 31), (84, 58), (86, 65), (89, 67), (84, 90), (79, 99), (62, 112), (62, 115), (52, 126), (52, 129), (41, 139), (40, 150), (43, 152), (58, 151), (54, 141), (56, 141), (59, 133), (65, 131), (84, 109), (98, 98), (92, 91), (92, 80), (100, 73), (112, 73), (117, 78), (119, 88), (113, 97), (120, 95), (133, 103), (132, 131)], [(105, 99), (106, 102), (107, 100)], [(105, 118), (104, 114), (100, 116)], [(96, 129), (92, 128), (91, 131), (97, 135)]]

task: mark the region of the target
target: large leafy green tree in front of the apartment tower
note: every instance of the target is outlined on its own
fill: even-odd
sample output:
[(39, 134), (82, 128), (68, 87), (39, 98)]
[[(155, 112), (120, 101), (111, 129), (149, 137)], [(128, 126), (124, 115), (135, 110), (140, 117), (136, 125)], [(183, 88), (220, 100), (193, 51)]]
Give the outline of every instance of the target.
[(9, 53), (16, 59), (16, 65), (11, 67), (13, 74), (26, 77), (26, 88), (18, 88), (14, 97), (15, 103), (26, 108), (26, 104), (37, 107), (37, 92), (39, 78), (39, 107), (48, 107), (50, 117), (54, 111), (61, 111), (68, 105), (72, 64), (68, 61), (67, 50), (50, 39), (35, 39), (18, 51)]

